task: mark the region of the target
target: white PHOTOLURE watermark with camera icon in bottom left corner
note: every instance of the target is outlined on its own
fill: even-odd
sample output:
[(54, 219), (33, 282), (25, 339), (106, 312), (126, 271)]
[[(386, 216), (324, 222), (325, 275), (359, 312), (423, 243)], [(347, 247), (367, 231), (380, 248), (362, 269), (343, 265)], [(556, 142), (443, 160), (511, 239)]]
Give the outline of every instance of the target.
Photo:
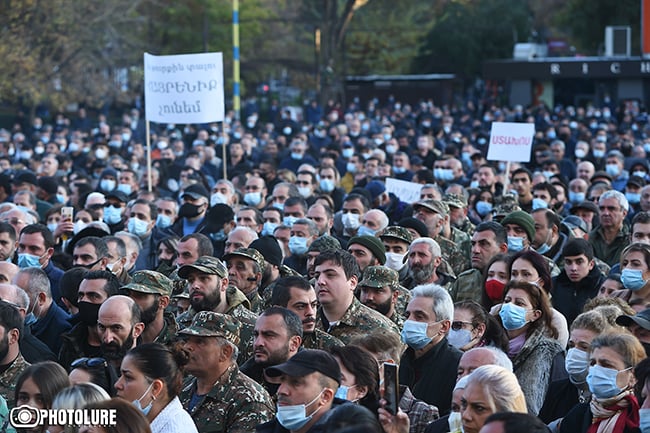
[(37, 409), (26, 404), (11, 409), (9, 422), (15, 428), (36, 426), (111, 426), (116, 425), (115, 409)]

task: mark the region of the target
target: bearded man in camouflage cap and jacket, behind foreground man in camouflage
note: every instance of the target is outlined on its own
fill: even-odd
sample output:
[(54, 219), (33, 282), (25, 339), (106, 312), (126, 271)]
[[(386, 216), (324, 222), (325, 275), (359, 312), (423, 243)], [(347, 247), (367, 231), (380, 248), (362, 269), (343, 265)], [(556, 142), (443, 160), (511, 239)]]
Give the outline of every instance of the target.
[(202, 256), (191, 265), (181, 266), (178, 276), (187, 280), (190, 295), (190, 309), (177, 318), (179, 327), (189, 326), (196, 313), (201, 311), (235, 317), (241, 323), (237, 361), (243, 364), (253, 354), (253, 329), (257, 315), (250, 311), (246, 295), (228, 285), (226, 266), (215, 257)]

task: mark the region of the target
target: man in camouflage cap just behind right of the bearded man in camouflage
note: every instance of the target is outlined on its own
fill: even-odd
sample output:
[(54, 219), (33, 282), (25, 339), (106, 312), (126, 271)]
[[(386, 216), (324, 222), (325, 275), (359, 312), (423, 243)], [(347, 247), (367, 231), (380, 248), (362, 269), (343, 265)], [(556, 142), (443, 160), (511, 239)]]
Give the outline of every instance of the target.
[(230, 284), (241, 290), (251, 303), (251, 311), (262, 312), (259, 287), (266, 269), (264, 256), (254, 248), (237, 248), (223, 256)]

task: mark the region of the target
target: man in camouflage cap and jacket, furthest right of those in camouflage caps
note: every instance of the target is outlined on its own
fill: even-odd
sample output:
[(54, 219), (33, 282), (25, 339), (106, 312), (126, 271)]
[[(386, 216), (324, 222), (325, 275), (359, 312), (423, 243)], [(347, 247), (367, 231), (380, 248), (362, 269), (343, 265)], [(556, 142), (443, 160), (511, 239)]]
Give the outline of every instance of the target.
[(469, 237), (449, 227), (449, 207), (445, 203), (439, 200), (419, 201), (413, 205), (413, 216), (427, 226), (429, 237), (440, 245), (442, 258), (455, 275), (469, 268), (469, 248), (467, 252), (462, 250), (463, 243), (469, 247)]

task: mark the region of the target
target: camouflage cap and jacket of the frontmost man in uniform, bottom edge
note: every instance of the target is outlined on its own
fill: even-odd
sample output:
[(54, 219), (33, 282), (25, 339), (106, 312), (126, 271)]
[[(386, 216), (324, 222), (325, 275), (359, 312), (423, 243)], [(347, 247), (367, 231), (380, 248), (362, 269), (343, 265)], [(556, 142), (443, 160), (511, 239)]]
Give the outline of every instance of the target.
[[(223, 337), (239, 343), (239, 324), (228, 315), (202, 311), (180, 334)], [(197, 378), (186, 380), (180, 400), (200, 433), (249, 433), (273, 419), (275, 406), (266, 390), (232, 363), (205, 395), (197, 394)]]

